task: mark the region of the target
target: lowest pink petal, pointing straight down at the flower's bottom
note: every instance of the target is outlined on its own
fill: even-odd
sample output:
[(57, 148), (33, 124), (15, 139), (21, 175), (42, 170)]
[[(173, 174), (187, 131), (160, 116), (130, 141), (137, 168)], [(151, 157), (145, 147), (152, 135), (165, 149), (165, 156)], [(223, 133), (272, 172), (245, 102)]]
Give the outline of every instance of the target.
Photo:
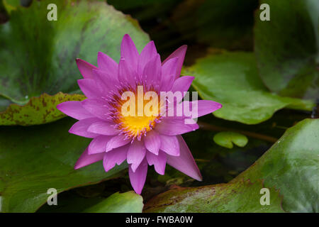
[(137, 194), (140, 194), (144, 187), (147, 175), (146, 159), (144, 159), (142, 163), (140, 163), (140, 166), (135, 170), (135, 172), (133, 172), (131, 167), (128, 167), (128, 175), (130, 176), (130, 184), (132, 184), (134, 191)]

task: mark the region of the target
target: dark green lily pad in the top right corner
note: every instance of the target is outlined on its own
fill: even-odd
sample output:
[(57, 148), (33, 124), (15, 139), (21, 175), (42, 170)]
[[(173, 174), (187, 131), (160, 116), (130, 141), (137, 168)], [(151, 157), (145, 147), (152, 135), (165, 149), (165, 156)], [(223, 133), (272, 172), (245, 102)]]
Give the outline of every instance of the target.
[(319, 96), (319, 1), (262, 0), (270, 21), (256, 13), (254, 50), (260, 76), (284, 96)]

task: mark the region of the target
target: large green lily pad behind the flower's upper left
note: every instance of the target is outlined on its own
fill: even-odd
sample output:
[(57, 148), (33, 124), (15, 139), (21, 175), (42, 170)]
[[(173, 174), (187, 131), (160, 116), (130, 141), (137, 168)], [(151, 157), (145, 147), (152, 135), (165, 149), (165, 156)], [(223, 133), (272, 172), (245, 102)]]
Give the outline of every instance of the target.
[(149, 41), (137, 21), (103, 1), (55, 1), (57, 21), (47, 20), (50, 3), (16, 6), (0, 26), (0, 94), (16, 104), (43, 93), (78, 93), (75, 59), (96, 65), (101, 51), (119, 60), (125, 33), (138, 50)]

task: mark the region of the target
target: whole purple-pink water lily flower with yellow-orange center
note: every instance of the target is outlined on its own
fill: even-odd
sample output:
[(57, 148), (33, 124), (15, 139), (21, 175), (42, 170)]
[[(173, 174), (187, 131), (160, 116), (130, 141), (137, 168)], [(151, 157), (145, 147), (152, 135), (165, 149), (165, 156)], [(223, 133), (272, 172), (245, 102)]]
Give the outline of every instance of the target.
[[(138, 194), (144, 187), (148, 165), (154, 165), (155, 171), (164, 175), (168, 164), (201, 181), (194, 157), (181, 137), (183, 133), (198, 129), (196, 122), (186, 124), (185, 119), (189, 116), (185, 114), (128, 116), (123, 114), (125, 101), (121, 99), (123, 92), (138, 93), (138, 86), (142, 86), (144, 93), (172, 91), (184, 94), (194, 79), (179, 77), (186, 48), (186, 45), (181, 46), (161, 62), (153, 41), (139, 53), (130, 36), (124, 35), (119, 63), (103, 52), (98, 54), (99, 67), (77, 59), (77, 66), (84, 77), (78, 80), (78, 84), (87, 99), (66, 101), (57, 106), (63, 113), (79, 120), (69, 133), (93, 138), (74, 169), (103, 160), (107, 172), (126, 160), (130, 182)], [(135, 101), (138, 106), (138, 99)], [(221, 104), (208, 100), (197, 101), (196, 105), (198, 117), (221, 107)], [(167, 110), (167, 104), (164, 106)], [(159, 104), (159, 109), (162, 109), (162, 104)]]

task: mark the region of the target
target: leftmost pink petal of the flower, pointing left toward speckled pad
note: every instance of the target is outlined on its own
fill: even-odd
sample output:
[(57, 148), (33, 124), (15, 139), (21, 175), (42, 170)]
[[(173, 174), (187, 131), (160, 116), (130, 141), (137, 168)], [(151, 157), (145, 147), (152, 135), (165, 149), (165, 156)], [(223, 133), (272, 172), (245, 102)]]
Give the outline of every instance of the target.
[(77, 120), (94, 117), (89, 111), (83, 108), (81, 101), (65, 101), (57, 105), (57, 109)]

